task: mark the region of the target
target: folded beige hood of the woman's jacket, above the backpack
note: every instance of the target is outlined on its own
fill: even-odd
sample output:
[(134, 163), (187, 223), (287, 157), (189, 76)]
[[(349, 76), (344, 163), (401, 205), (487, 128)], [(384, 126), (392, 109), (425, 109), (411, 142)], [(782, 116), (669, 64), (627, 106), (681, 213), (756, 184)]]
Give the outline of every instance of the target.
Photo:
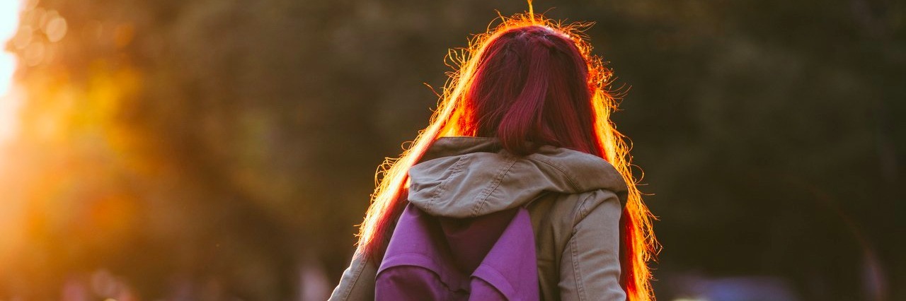
[(409, 201), (434, 216), (471, 218), (532, 202), (545, 192), (605, 189), (626, 201), (626, 183), (601, 157), (554, 146), (511, 155), (496, 138), (438, 138), (409, 170)]

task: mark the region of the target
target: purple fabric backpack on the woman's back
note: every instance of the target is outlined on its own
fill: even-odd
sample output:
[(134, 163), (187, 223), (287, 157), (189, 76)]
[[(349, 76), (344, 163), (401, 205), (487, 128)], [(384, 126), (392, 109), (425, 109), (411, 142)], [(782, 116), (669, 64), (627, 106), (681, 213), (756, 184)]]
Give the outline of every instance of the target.
[(498, 213), (438, 221), (408, 205), (378, 268), (375, 300), (538, 300), (528, 212)]

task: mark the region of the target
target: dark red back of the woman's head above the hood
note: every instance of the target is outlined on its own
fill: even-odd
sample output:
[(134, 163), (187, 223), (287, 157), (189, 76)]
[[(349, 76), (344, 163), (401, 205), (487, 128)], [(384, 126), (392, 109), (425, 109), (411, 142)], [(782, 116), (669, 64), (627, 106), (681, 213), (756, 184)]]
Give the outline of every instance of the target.
[(458, 108), (459, 135), (496, 136), (516, 155), (536, 146), (598, 152), (588, 63), (566, 33), (529, 24), (491, 36)]

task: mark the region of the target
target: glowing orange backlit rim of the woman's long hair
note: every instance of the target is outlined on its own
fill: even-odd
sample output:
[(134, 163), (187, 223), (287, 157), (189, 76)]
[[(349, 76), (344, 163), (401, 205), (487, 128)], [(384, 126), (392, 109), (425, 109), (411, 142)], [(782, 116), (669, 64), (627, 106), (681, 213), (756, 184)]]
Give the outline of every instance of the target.
[(388, 158), (375, 175), (377, 188), (372, 194), (371, 206), (365, 220), (360, 225), (359, 246), (360, 255), (370, 254), (378, 245), (386, 241), (393, 212), (400, 209), (400, 195), (406, 189), (408, 170), (418, 162), (421, 155), (439, 136), (474, 136), (476, 135), (475, 122), (472, 122), (470, 109), (466, 105), (459, 105), (469, 89), (477, 71), (480, 69), (478, 58), (486, 51), (487, 45), (498, 36), (515, 28), (526, 26), (545, 27), (550, 34), (561, 35), (570, 40), (578, 49), (587, 64), (587, 87), (589, 89), (593, 110), (593, 131), (600, 142), (599, 153), (609, 161), (627, 183), (629, 190), (627, 203), (622, 221), (625, 234), (622, 244), (625, 248), (625, 261), (628, 272), (624, 274), (625, 290), (629, 300), (652, 300), (651, 270), (648, 262), (652, 259), (657, 249), (657, 241), (651, 230), (653, 216), (643, 202), (641, 193), (636, 187), (636, 177), (631, 172), (630, 147), (627, 139), (616, 130), (611, 122), (611, 112), (617, 108), (617, 101), (611, 94), (610, 80), (612, 72), (604, 67), (600, 57), (592, 53), (592, 45), (587, 41), (583, 31), (592, 23), (563, 22), (546, 18), (543, 14), (535, 14), (532, 2), (529, 1), (529, 11), (515, 14), (511, 17), (499, 17), (487, 27), (486, 33), (474, 35), (466, 48), (448, 52), (448, 66), (454, 71), (448, 73), (449, 78), (440, 95), (439, 104), (430, 119), (429, 126), (419, 131), (419, 136), (410, 144), (399, 158)]

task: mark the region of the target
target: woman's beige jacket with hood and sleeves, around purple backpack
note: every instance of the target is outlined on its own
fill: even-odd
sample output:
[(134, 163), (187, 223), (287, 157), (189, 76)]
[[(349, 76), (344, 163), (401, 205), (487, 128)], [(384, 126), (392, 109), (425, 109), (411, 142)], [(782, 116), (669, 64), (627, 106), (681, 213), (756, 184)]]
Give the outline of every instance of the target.
[[(508, 155), (493, 138), (441, 137), (410, 168), (409, 201), (467, 218), (525, 206), (543, 300), (625, 300), (619, 221), (626, 183), (601, 158), (554, 146)], [(373, 300), (380, 263), (354, 256), (330, 300)]]

